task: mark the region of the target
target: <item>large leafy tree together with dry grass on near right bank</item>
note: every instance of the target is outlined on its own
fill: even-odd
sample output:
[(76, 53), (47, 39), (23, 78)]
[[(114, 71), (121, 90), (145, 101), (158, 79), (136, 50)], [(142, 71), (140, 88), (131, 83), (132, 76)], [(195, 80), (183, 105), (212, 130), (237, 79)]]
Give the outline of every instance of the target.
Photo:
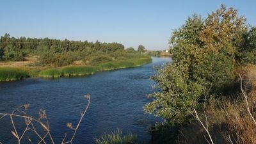
[(175, 29), (170, 53), (145, 106), (164, 118), (152, 143), (256, 143), (256, 28), (222, 5)]

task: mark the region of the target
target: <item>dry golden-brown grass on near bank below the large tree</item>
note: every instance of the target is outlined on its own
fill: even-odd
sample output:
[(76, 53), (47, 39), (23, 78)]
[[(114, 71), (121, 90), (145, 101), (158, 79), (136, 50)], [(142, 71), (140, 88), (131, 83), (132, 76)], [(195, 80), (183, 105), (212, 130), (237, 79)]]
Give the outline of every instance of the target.
[(196, 121), (180, 130), (177, 143), (256, 144), (256, 66), (237, 72), (241, 72), (240, 97), (210, 100), (205, 113), (193, 113)]

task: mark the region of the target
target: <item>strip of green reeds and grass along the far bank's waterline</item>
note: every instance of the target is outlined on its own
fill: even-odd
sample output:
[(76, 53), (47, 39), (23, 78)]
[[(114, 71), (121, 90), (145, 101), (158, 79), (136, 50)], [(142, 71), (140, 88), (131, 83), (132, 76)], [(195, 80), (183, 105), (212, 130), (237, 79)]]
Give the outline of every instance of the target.
[(0, 81), (18, 81), (26, 77), (44, 77), (44, 78), (58, 78), (71, 76), (86, 76), (92, 75), (96, 72), (116, 70), (120, 68), (140, 67), (152, 62), (152, 58), (133, 58), (129, 60), (110, 61), (100, 63), (99, 65), (68, 65), (65, 67), (36, 67), (29, 65), (22, 65), (15, 67), (10, 65), (3, 65), (0, 67)]

